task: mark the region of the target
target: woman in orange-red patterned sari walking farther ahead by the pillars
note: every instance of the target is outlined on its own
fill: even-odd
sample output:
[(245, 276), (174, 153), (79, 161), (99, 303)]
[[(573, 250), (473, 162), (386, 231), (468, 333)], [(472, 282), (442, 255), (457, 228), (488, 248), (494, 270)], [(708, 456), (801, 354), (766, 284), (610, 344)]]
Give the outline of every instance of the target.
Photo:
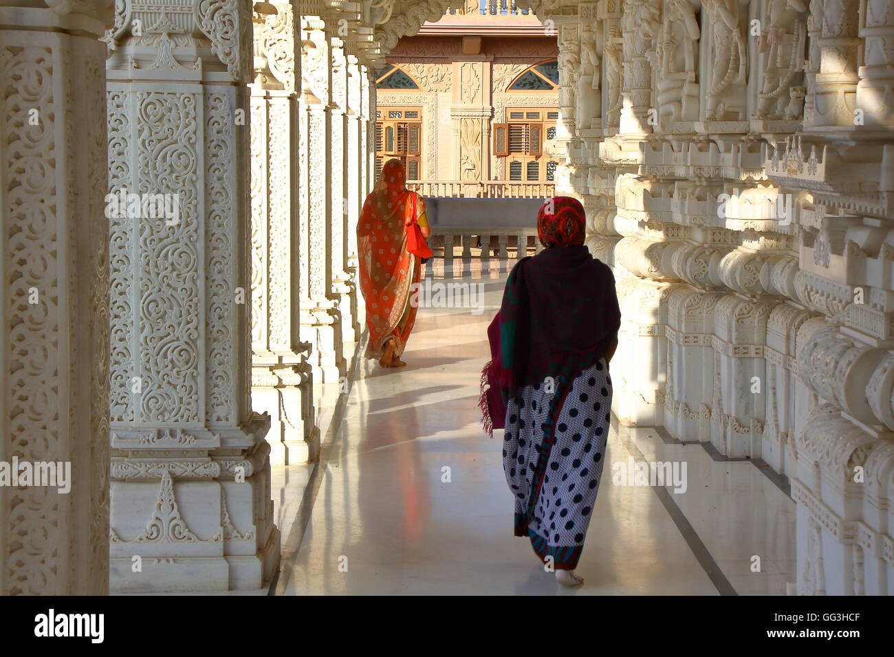
[(403, 164), (388, 160), (369, 193), (357, 223), (360, 291), (367, 300), (367, 358), (383, 367), (406, 365), (401, 354), (416, 324), (410, 303), (419, 282), (419, 257), (407, 250), (407, 228), (416, 222), (423, 237), (431, 235), (426, 202), (407, 189)]

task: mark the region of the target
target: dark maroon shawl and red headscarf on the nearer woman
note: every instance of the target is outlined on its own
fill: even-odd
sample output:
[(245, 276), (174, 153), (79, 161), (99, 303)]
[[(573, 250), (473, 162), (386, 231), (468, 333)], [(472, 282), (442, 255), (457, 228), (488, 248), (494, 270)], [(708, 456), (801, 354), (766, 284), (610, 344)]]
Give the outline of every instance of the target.
[(509, 275), (487, 329), (491, 360), (481, 376), (479, 406), (489, 434), (503, 427), (506, 402), (520, 388), (548, 376), (557, 386), (573, 381), (603, 358), (618, 333), (614, 276), (583, 246), (584, 222), (575, 198), (545, 203), (537, 232), (547, 248), (519, 260)]

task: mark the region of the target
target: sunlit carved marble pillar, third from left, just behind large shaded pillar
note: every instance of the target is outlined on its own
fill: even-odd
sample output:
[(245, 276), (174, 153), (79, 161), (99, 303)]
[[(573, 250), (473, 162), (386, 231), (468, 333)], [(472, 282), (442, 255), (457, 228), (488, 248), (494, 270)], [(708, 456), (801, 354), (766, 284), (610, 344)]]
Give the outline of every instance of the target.
[(299, 341), (298, 135), (294, 9), (255, 22), (251, 87), (251, 399), (271, 417), (270, 462), (307, 463), (319, 451), (308, 345)]

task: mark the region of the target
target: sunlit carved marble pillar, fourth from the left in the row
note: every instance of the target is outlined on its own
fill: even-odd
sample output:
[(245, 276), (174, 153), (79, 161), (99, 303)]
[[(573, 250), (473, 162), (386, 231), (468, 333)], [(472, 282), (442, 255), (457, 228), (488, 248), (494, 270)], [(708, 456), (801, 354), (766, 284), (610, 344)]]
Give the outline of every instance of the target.
[[(301, 16), (301, 97), (299, 102), (301, 244), (300, 337), (311, 344), (314, 378), (335, 383), (345, 373), (342, 317), (333, 297), (332, 147), (329, 43), (319, 16)], [(336, 205), (341, 198), (336, 198)]]

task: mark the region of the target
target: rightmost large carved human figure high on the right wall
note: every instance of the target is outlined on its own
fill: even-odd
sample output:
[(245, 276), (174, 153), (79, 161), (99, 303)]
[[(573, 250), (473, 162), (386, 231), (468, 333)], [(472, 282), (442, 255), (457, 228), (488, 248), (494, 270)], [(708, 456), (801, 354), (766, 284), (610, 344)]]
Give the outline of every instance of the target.
[(804, 0), (770, 0), (766, 29), (757, 39), (763, 55), (763, 83), (757, 100), (757, 116), (779, 118), (789, 102), (789, 88), (798, 86), (804, 72), (807, 35)]

